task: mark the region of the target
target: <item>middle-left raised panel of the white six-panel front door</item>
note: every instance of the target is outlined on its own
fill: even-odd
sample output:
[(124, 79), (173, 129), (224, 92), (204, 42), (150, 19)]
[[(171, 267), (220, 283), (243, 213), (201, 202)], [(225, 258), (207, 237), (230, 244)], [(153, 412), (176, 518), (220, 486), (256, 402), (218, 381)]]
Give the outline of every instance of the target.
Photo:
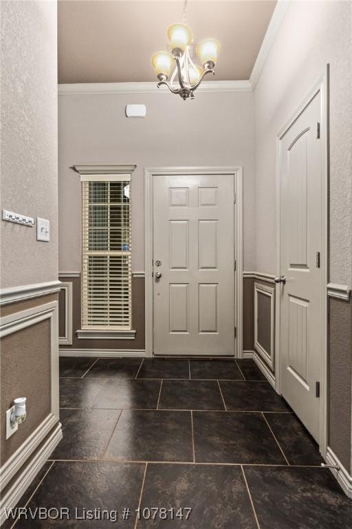
[(189, 229), (188, 220), (169, 220), (169, 268), (188, 269)]

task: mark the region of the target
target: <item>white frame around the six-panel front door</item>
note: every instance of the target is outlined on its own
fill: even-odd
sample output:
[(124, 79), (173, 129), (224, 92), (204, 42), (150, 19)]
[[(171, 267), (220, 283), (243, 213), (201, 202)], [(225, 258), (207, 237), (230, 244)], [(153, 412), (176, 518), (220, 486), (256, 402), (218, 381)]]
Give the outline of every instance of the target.
[(157, 175), (219, 175), (234, 177), (234, 358), (243, 357), (243, 167), (146, 167), (144, 169), (144, 255), (145, 255), (145, 350), (153, 356), (153, 178)]

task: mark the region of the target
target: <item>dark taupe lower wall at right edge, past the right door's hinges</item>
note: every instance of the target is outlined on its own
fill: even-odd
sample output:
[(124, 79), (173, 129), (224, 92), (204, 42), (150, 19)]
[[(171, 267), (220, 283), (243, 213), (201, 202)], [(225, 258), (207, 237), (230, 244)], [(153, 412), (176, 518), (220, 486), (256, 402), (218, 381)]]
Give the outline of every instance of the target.
[(329, 446), (351, 473), (352, 303), (329, 298)]

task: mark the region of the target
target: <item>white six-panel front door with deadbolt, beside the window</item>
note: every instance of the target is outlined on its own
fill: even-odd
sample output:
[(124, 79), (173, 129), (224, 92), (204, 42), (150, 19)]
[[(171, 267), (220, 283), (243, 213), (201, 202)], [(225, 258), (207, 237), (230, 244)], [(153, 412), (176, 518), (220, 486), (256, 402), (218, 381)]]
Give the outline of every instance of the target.
[(155, 175), (153, 243), (154, 354), (234, 355), (234, 176)]

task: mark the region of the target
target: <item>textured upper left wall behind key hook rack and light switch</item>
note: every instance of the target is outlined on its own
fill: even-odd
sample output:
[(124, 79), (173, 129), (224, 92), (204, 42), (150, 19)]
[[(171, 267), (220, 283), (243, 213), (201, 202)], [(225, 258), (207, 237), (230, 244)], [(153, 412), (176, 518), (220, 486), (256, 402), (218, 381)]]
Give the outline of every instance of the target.
[(1, 208), (50, 220), (36, 227), (0, 221), (1, 287), (56, 280), (56, 1), (1, 1)]

